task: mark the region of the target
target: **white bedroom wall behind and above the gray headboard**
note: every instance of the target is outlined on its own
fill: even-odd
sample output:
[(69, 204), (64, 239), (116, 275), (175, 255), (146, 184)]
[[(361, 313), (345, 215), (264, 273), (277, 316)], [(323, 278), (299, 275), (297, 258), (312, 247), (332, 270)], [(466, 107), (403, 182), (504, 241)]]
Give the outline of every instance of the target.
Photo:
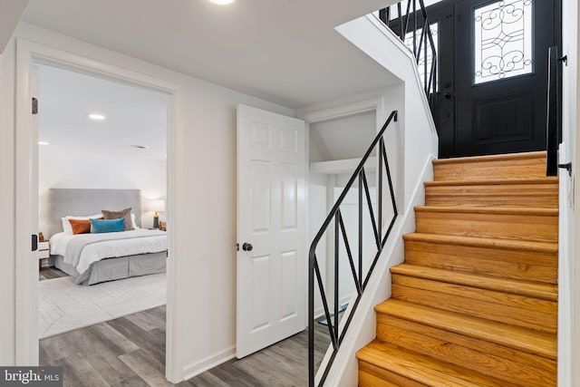
[[(48, 189), (140, 189), (143, 198), (140, 227), (153, 226), (153, 212), (147, 211), (147, 199), (167, 195), (165, 160), (64, 151), (51, 145), (39, 146), (38, 157), (40, 231), (47, 229)], [(160, 220), (165, 220), (165, 213), (160, 213)], [(44, 233), (44, 237), (50, 236)]]

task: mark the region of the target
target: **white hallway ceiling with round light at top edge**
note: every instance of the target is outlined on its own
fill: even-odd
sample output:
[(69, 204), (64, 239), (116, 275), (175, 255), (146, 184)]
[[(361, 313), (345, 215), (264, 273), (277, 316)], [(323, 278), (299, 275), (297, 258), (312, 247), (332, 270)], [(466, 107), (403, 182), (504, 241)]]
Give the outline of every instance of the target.
[(334, 27), (391, 0), (31, 0), (24, 21), (289, 108), (398, 82)]

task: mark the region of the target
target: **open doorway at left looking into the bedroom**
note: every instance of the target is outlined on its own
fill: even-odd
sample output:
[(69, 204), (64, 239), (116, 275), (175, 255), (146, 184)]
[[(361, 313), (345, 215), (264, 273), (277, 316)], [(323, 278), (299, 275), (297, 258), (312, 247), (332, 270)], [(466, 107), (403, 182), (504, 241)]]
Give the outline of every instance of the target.
[[(151, 357), (163, 367), (169, 95), (43, 63), (31, 81), (39, 364), (73, 379), (78, 364), (98, 368), (94, 347), (118, 344), (124, 316), (160, 347)], [(111, 385), (130, 379), (131, 356), (124, 369), (95, 374)]]

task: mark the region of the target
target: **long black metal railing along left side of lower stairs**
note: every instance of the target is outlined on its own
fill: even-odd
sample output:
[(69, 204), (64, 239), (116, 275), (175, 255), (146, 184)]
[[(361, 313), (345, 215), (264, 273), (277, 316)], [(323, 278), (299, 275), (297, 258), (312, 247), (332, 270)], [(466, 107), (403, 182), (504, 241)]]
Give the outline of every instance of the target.
[[(387, 121), (382, 126), (381, 131), (377, 134), (374, 140), (372, 140), (372, 144), (369, 149), (364, 153), (362, 160), (359, 162), (356, 169), (354, 169), (353, 176), (348, 180), (346, 186), (343, 189), (343, 192), (334, 203), (333, 208), (331, 209), (328, 217), (324, 220), (323, 226), (320, 228), (316, 236), (314, 237), (314, 241), (310, 247), (309, 251), (309, 266), (308, 266), (308, 372), (309, 372), (309, 386), (314, 387), (314, 282), (318, 285), (318, 290), (320, 291), (320, 295), (322, 298), (322, 304), (324, 308), (324, 317), (326, 318), (326, 323), (328, 325), (328, 334), (330, 334), (330, 342), (333, 348), (333, 353), (329, 358), (329, 361), (324, 364), (324, 372), (321, 377), (321, 381), (319, 382), (319, 386), (324, 384), (324, 380), (326, 379), (328, 372), (330, 371), (330, 367), (332, 366), (334, 357), (343, 343), (344, 335), (351, 324), (353, 319), (354, 311), (356, 310), (359, 301), (361, 300), (362, 293), (366, 288), (369, 279), (372, 276), (372, 270), (377, 263), (379, 256), (381, 255), (382, 248), (384, 247), (389, 234), (391, 233), (391, 228), (394, 225), (395, 219), (397, 218), (397, 206), (395, 202), (395, 194), (394, 189), (392, 186), (392, 179), (391, 179), (391, 169), (389, 168), (389, 161), (387, 159), (387, 151), (385, 149), (385, 142), (383, 139), (383, 135), (391, 121), (397, 121), (397, 111), (392, 111), (391, 115), (387, 119)], [(378, 150), (377, 150), (378, 147)], [(377, 211), (372, 208), (372, 198), (371, 193), (369, 190), (369, 183), (367, 181), (367, 174), (365, 172), (365, 163), (369, 160), (372, 153), (375, 153), (377, 159)], [(386, 183), (385, 179), (383, 179), (383, 175), (386, 175)], [(343, 215), (341, 213), (341, 205), (343, 204), (344, 198), (346, 198), (349, 191), (353, 188), (354, 182), (358, 180), (358, 232), (356, 237), (358, 242), (358, 262), (355, 265), (353, 259), (353, 251), (351, 250), (351, 245), (349, 243), (349, 237), (347, 236), (346, 227), (344, 227), (343, 222)], [(389, 193), (391, 196), (391, 205), (392, 205), (392, 215), (391, 220), (388, 223), (388, 226), (385, 228), (383, 225), (386, 226), (387, 222), (386, 219), (383, 219), (383, 192), (384, 189), (388, 188)], [(364, 198), (363, 195), (364, 194)], [(371, 265), (368, 267), (366, 273), (363, 273), (363, 254), (362, 254), (362, 238), (363, 238), (363, 212), (366, 211), (363, 209), (363, 200), (366, 200), (366, 204), (368, 206), (369, 215), (371, 218), (372, 227), (369, 227), (368, 232), (372, 233), (372, 237), (374, 243), (376, 244), (377, 253), (375, 254)], [(316, 257), (316, 247), (318, 247), (319, 242), (326, 234), (326, 231), (333, 224), (333, 232), (334, 232), (334, 256), (333, 256), (333, 307), (332, 312), (329, 308), (327, 299), (326, 299), (326, 291), (324, 286), (324, 278), (321, 276), (320, 267), (318, 265), (318, 259)], [(341, 305), (339, 300), (339, 267), (340, 267), (340, 249), (339, 244), (340, 240), (343, 240), (343, 247), (346, 252), (346, 258), (348, 258), (348, 265), (350, 266), (350, 274), (352, 274), (354, 287), (356, 291), (356, 299), (353, 301), (352, 305), (349, 305), (349, 309), (347, 310), (348, 315), (345, 317), (346, 320), (344, 324), (341, 323), (339, 319), (339, 308)], [(331, 314), (332, 313), (332, 314)]]

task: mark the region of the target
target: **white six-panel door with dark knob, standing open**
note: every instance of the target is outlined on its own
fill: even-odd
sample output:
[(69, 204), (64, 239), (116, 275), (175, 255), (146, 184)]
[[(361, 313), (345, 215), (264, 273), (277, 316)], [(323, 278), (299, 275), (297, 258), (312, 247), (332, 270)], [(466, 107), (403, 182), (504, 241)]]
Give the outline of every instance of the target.
[(238, 358), (304, 330), (304, 132), (304, 121), (237, 107)]

